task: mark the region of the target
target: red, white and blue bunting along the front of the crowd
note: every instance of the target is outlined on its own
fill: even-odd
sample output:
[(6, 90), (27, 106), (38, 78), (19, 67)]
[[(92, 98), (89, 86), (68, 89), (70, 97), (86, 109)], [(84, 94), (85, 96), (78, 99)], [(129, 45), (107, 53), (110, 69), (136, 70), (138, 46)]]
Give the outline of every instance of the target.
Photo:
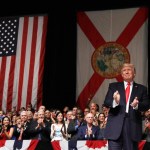
[[(0, 140), (0, 150), (34, 150), (38, 149), (38, 140)], [(139, 150), (142, 150), (146, 141), (139, 142)], [(41, 141), (43, 148), (45, 147), (45, 142)], [(68, 150), (68, 141), (53, 141), (53, 150)], [(49, 147), (50, 148), (50, 147)], [(77, 141), (78, 150), (108, 150), (108, 142), (106, 140), (95, 140), (95, 141)]]

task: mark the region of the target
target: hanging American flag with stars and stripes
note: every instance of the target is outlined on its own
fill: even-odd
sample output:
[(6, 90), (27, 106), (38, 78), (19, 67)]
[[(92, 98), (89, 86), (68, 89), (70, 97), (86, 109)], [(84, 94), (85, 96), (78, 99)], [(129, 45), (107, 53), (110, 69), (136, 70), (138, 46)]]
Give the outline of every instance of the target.
[(0, 18), (0, 109), (41, 105), (47, 21), (45, 15)]

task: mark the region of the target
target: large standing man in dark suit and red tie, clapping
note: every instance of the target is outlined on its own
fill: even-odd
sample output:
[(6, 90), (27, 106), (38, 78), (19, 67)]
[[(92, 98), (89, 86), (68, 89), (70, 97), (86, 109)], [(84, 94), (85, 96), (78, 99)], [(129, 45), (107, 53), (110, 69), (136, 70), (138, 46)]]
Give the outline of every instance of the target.
[[(109, 150), (138, 150), (142, 138), (141, 112), (148, 110), (147, 88), (134, 82), (135, 68), (125, 63), (121, 69), (123, 82), (110, 83), (104, 104), (110, 108), (104, 136)], [(128, 86), (129, 84), (129, 86)], [(129, 96), (126, 102), (126, 87)]]

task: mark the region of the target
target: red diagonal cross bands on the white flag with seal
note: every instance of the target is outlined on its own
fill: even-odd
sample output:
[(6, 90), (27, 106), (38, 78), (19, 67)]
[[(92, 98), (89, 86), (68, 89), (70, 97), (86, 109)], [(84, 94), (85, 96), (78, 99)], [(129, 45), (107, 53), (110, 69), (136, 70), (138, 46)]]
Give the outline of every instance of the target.
[[(127, 47), (147, 18), (148, 9), (139, 8), (115, 42), (123, 45), (124, 47)], [(98, 32), (86, 13), (78, 12), (77, 22), (95, 49), (107, 42)], [(88, 83), (85, 85), (80, 95), (78, 96), (77, 104), (81, 107), (81, 109), (85, 108), (86, 104), (88, 103), (88, 99), (92, 99), (104, 80), (105, 78), (100, 76), (98, 73), (93, 73)], [(121, 75), (116, 76), (116, 80), (122, 81)]]

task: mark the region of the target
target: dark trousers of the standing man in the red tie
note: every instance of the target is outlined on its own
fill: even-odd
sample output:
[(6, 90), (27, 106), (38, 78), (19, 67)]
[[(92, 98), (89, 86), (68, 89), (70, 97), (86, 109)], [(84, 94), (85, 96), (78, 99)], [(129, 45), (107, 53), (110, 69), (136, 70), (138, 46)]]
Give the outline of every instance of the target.
[(138, 142), (131, 140), (129, 118), (126, 117), (122, 133), (117, 140), (108, 140), (108, 150), (138, 150)]

